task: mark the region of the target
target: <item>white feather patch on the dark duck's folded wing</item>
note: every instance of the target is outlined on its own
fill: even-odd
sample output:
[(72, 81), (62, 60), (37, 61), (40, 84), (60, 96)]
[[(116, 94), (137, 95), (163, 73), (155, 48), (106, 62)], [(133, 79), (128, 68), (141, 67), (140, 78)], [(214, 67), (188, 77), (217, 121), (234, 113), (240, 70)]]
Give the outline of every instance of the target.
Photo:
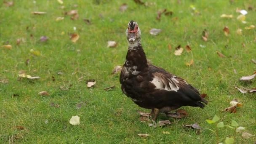
[(151, 81), (151, 83), (153, 83), (157, 89), (164, 89), (166, 91), (176, 91), (176, 92), (179, 90), (179, 86), (177, 85), (179, 81), (176, 80), (174, 77), (172, 77), (171, 79), (168, 79), (168, 83), (165, 83), (164, 80), (155, 76)]

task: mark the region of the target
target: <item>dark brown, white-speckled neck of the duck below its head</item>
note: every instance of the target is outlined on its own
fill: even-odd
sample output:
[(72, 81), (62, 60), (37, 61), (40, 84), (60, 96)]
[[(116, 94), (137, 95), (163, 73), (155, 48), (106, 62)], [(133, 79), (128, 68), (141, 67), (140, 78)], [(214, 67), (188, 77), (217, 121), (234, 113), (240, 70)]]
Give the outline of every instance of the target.
[(141, 39), (136, 39), (134, 43), (129, 43), (124, 67), (132, 75), (138, 75), (143, 69), (148, 67), (146, 54), (141, 46)]

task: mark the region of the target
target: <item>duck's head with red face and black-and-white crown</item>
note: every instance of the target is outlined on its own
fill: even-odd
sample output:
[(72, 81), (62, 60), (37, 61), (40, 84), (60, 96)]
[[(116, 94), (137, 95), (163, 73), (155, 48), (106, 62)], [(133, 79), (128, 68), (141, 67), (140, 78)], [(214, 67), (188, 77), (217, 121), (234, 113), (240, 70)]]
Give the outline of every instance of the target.
[(128, 23), (128, 27), (126, 29), (126, 37), (128, 43), (134, 43), (141, 37), (141, 30), (139, 29), (139, 26), (136, 21), (131, 20)]

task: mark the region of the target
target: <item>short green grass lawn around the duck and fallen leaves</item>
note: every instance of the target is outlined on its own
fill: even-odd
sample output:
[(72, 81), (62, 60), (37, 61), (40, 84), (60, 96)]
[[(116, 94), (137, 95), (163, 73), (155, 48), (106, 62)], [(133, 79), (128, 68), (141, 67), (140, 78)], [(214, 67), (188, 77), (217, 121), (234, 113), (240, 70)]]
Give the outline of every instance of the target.
[[(128, 9), (122, 13), (119, 6), (124, 2)], [(144, 7), (133, 1), (80, 0), (76, 3), (75, 0), (64, 0), (66, 8), (61, 9), (57, 0), (37, 0), (36, 3), (14, 0), (12, 7), (6, 7), (0, 0), (0, 46), (12, 45), (11, 50), (0, 48), (0, 79), (9, 81), (0, 83), (0, 143), (216, 144), (224, 142), (228, 136), (235, 136), (237, 144), (256, 141), (255, 136), (243, 139), (241, 133), (229, 128), (218, 131), (218, 141), (208, 130), (214, 126), (205, 122), (216, 114), (225, 124), (235, 120), (247, 132), (256, 135), (255, 93), (242, 94), (234, 88), (241, 76), (251, 75), (256, 69), (251, 62), (251, 59), (256, 59), (256, 30), (244, 29), (256, 25), (256, 1), (181, 0), (178, 4), (176, 0), (158, 0), (155, 3)], [(75, 8), (74, 4), (78, 7)], [(201, 14), (193, 16), (190, 5)], [(248, 10), (249, 5), (253, 10), (248, 11), (247, 24), (243, 24), (236, 19), (239, 14), (235, 10)], [(163, 15), (161, 21), (157, 21), (157, 11), (164, 8), (173, 11), (173, 16)], [(77, 21), (63, 14), (72, 9), (78, 9)], [(47, 14), (33, 15), (32, 11), (46, 11)], [(223, 13), (233, 14), (234, 18), (221, 19)], [(64, 20), (55, 21), (59, 16), (64, 16)], [(175, 21), (175, 17), (178, 20)], [(90, 19), (92, 24), (85, 24), (83, 19)], [(175, 123), (163, 128), (149, 128), (147, 123), (139, 121), (136, 110), (147, 110), (123, 95), (119, 75), (110, 75), (112, 69), (125, 60), (128, 47), (125, 29), (130, 20), (139, 23), (144, 51), (153, 64), (183, 77), (200, 92), (208, 94), (209, 104), (205, 109), (184, 107), (188, 117), (179, 121), (170, 118)], [(222, 31), (225, 26), (230, 30), (228, 37)], [(69, 33), (74, 33), (73, 27), (80, 35), (76, 43), (69, 40)], [(149, 34), (151, 28), (163, 31), (152, 36)], [(243, 35), (236, 34), (238, 28), (243, 29)], [(201, 37), (203, 29), (209, 32), (207, 42)], [(61, 32), (65, 34), (61, 35)], [(40, 42), (43, 35), (49, 37), (45, 43)], [(24, 38), (26, 42), (16, 45), (18, 38)], [(117, 41), (117, 48), (107, 48), (108, 40)], [(173, 54), (176, 46), (185, 48), (188, 43), (191, 53)], [(172, 46), (171, 52), (168, 44)], [(32, 56), (30, 49), (40, 51), (41, 56)], [(216, 51), (226, 58), (219, 57)], [(25, 64), (27, 59), (30, 59), (28, 65)], [(187, 67), (186, 62), (191, 59), (195, 63)], [(18, 80), (20, 70), (41, 78)], [(58, 75), (58, 72), (63, 72), (63, 75)], [(80, 77), (83, 77), (82, 81), (79, 81)], [(87, 88), (85, 80), (88, 79), (96, 80), (94, 88)], [(249, 85), (239, 81), (236, 84), (256, 87), (255, 80)], [(68, 91), (62, 91), (59, 89), (61, 85), (72, 86)], [(104, 91), (111, 85), (115, 85), (113, 91)], [(40, 91), (48, 91), (50, 96), (39, 96)], [(19, 96), (12, 97), (13, 94)], [(243, 107), (235, 114), (221, 112), (235, 98), (243, 103)], [(82, 101), (86, 105), (76, 109), (76, 104)], [(60, 107), (51, 107), (51, 102)], [(80, 125), (69, 124), (72, 115), (80, 117)], [(160, 115), (158, 120), (165, 119), (165, 115)], [(196, 122), (203, 128), (200, 135), (182, 126)], [(16, 126), (25, 129), (19, 130)], [(163, 131), (170, 134), (163, 134)], [(137, 133), (147, 133), (151, 137), (140, 138)]]

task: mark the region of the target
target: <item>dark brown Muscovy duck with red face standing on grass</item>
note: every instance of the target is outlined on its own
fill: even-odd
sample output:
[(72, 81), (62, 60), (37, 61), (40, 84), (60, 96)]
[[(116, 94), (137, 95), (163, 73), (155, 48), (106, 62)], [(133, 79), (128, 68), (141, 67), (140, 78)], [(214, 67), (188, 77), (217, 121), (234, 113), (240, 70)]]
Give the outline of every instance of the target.
[(208, 101), (199, 91), (181, 77), (148, 63), (141, 45), (141, 30), (131, 20), (126, 29), (128, 51), (120, 73), (122, 92), (139, 107), (151, 109), (155, 122), (159, 113), (184, 106), (204, 108)]

